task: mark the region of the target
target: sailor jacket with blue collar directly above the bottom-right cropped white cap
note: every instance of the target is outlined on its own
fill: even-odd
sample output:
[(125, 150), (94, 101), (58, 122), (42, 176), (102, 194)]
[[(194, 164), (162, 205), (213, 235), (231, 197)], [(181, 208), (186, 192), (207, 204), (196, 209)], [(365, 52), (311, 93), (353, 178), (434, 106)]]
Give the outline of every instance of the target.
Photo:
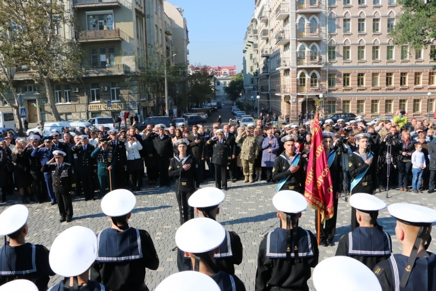
[(335, 256), (357, 259), (373, 270), (376, 264), (389, 259), (391, 253), (392, 241), (388, 233), (378, 227), (359, 226), (341, 238)]

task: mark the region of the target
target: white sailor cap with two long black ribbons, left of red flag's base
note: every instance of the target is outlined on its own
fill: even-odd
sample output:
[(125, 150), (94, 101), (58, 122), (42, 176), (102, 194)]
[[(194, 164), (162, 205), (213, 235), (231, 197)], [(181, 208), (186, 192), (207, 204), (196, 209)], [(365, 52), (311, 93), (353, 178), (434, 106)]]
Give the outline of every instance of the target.
[(307, 200), (298, 192), (283, 190), (273, 196), (273, 205), (285, 213), (300, 213), (307, 209)]

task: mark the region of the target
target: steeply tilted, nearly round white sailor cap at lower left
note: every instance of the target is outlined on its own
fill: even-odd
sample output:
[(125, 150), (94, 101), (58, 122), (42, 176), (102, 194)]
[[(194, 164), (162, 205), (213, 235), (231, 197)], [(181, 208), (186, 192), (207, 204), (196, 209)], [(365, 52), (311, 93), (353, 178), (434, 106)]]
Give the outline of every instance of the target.
[(48, 261), (58, 275), (73, 277), (83, 274), (97, 258), (97, 237), (83, 226), (73, 226), (61, 232), (50, 248)]

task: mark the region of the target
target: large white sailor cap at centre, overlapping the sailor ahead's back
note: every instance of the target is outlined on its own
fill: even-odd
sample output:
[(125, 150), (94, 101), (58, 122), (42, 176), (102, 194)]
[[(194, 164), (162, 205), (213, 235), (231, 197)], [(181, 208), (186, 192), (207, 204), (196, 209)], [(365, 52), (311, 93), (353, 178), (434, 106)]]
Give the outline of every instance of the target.
[(206, 253), (216, 249), (226, 236), (223, 226), (213, 219), (190, 219), (177, 229), (175, 241), (180, 250), (188, 253)]

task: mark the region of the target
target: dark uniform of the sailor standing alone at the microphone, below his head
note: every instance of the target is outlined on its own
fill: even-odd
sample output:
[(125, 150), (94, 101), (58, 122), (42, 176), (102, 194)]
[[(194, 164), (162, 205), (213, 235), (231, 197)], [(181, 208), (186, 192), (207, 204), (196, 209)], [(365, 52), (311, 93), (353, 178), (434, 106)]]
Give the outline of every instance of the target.
[[(185, 164), (191, 165), (187, 171), (182, 168)], [(187, 155), (184, 158), (175, 156), (170, 162), (168, 173), (170, 177), (175, 178), (174, 192), (179, 205), (179, 211), (181, 210), (181, 206), (183, 206), (183, 221), (180, 222), (182, 225), (189, 219), (194, 218), (194, 208), (188, 205), (187, 200), (191, 194), (197, 190), (200, 184), (200, 173), (197, 161), (191, 155)]]

